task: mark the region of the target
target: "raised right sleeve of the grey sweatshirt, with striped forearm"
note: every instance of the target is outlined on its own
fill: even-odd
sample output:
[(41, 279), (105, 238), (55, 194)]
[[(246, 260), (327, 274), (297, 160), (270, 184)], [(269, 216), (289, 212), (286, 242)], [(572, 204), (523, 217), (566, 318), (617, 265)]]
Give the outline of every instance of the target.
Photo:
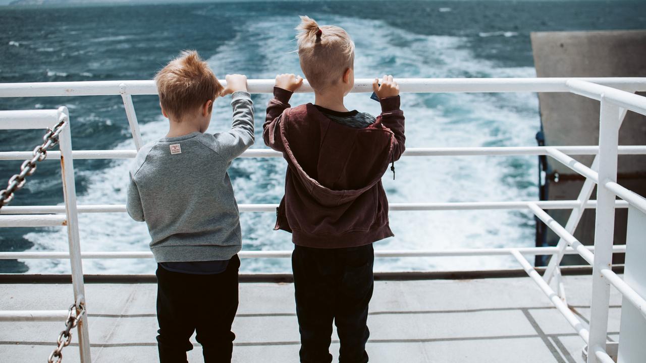
[(226, 161), (231, 161), (244, 150), (253, 145), (253, 102), (249, 92), (233, 92), (231, 95), (233, 107), (233, 121), (231, 130), (214, 134), (218, 147), (218, 154)]

